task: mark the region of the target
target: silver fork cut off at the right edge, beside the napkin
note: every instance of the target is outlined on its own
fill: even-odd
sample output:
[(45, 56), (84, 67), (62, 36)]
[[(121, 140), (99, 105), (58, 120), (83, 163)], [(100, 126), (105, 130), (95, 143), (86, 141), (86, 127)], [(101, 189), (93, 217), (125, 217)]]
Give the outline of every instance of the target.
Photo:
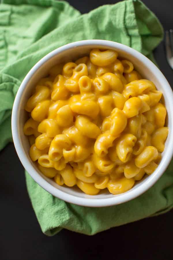
[(173, 69), (173, 30), (165, 32), (165, 47), (166, 47), (166, 58), (168, 64)]

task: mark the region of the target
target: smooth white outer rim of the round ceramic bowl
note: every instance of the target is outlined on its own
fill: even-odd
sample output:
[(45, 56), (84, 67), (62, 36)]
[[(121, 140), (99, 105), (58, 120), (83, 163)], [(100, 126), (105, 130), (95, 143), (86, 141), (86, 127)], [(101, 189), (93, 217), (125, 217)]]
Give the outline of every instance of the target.
[[(166, 92), (168, 94), (168, 101), (169, 105), (172, 106), (173, 103), (173, 93), (172, 89), (170, 88), (170, 85), (164, 75), (161, 73), (161, 71), (151, 62), (147, 57), (139, 53), (138, 51), (125, 46), (123, 44), (117, 43), (117, 42), (112, 42), (112, 41), (107, 41), (107, 40), (83, 40), (83, 41), (78, 41), (78, 42), (72, 42), (69, 44), (66, 44), (62, 47), (59, 47), (58, 49), (55, 49), (54, 51), (48, 53), (45, 57), (43, 57), (39, 62), (33, 66), (33, 68), (29, 71), (29, 73), (26, 75), (24, 80), (22, 81), (20, 88), (16, 94), (16, 98), (14, 101), (13, 109), (12, 109), (12, 135), (13, 135), (13, 140), (14, 140), (14, 146), (16, 148), (16, 152), (18, 154), (18, 157), (20, 161), (22, 162), (23, 166), (27, 170), (27, 172), (31, 175), (31, 177), (46, 191), (48, 191), (50, 194), (54, 195), (55, 197), (58, 197), (62, 200), (65, 200), (66, 202), (69, 203), (74, 203), (77, 205), (82, 205), (82, 206), (89, 206), (89, 207), (104, 207), (104, 206), (111, 206), (111, 205), (117, 205), (121, 204), (124, 202), (127, 202), (129, 200), (132, 200), (133, 198), (138, 197), (142, 193), (144, 193), (146, 190), (148, 190), (163, 174), (163, 172), (166, 170), (168, 167), (168, 164), (171, 161), (172, 155), (173, 155), (173, 129), (169, 129), (171, 131), (171, 136), (172, 138), (170, 139), (170, 142), (167, 147), (167, 152), (165, 153), (161, 163), (157, 167), (155, 174), (150, 175), (149, 177), (146, 178), (145, 182), (140, 185), (139, 187), (136, 187), (134, 190), (131, 190), (130, 192), (126, 192), (120, 195), (115, 195), (112, 198), (104, 198), (104, 199), (96, 199), (96, 198), (80, 198), (73, 196), (71, 194), (67, 194), (56, 187), (53, 187), (50, 183), (48, 183), (45, 179), (42, 178), (39, 174), (36, 174), (36, 170), (33, 168), (33, 166), (30, 164), (28, 161), (27, 157), (25, 156), (25, 152), (23, 150), (22, 144), (19, 142), (19, 132), (17, 131), (18, 126), (17, 126), (17, 111), (18, 111), (18, 106), (20, 103), (20, 98), (22, 96), (22, 92), (25, 89), (29, 79), (33, 76), (35, 71), (42, 65), (44, 62), (52, 58), (54, 55), (57, 55), (58, 53), (65, 51), (70, 48), (75, 48), (79, 46), (86, 46), (86, 45), (104, 45), (104, 47), (109, 47), (109, 48), (117, 48), (121, 49), (122, 51), (128, 52), (132, 56), (137, 56), (139, 60), (142, 60), (143, 64), (148, 66), (152, 73), (154, 75), (157, 75), (157, 79), (160, 78), (162, 81), (162, 84), (164, 84), (164, 88), (166, 89)], [(173, 113), (169, 115), (171, 122), (173, 122)], [(170, 134), (170, 133), (169, 133)]]

